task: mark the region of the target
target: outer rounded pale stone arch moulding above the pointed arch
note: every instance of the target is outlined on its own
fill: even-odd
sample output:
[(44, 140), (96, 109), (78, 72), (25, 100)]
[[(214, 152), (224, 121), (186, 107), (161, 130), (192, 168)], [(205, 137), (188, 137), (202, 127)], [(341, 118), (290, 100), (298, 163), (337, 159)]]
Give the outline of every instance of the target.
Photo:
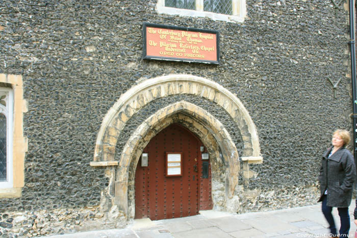
[(176, 94), (200, 96), (224, 108), (241, 131), (244, 142), (241, 160), (262, 163), (256, 126), (237, 96), (206, 78), (189, 74), (171, 74), (140, 82), (120, 96), (101, 123), (94, 149), (94, 160), (90, 165), (115, 165), (115, 147), (125, 123), (147, 103)]

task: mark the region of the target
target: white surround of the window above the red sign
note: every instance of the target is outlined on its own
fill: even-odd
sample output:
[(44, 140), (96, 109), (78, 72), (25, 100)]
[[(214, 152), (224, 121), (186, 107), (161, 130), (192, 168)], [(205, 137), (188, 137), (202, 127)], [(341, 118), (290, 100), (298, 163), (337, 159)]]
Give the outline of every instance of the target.
[(228, 22), (243, 22), (247, 15), (246, 0), (232, 0), (233, 15), (224, 15), (214, 12), (203, 11), (203, 0), (196, 0), (196, 10), (165, 7), (165, 0), (158, 0), (157, 11), (163, 14), (189, 16), (189, 17), (207, 17), (212, 20), (221, 20)]

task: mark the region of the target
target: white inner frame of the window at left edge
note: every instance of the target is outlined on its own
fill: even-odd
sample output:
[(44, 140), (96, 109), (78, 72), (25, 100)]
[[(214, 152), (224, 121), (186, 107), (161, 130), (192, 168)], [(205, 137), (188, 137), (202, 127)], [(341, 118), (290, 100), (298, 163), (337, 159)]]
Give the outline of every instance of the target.
[(0, 104), (0, 114), (6, 117), (6, 181), (0, 182), (0, 189), (13, 188), (13, 112), (14, 96), (11, 88), (0, 88), (0, 98), (5, 101), (5, 105)]

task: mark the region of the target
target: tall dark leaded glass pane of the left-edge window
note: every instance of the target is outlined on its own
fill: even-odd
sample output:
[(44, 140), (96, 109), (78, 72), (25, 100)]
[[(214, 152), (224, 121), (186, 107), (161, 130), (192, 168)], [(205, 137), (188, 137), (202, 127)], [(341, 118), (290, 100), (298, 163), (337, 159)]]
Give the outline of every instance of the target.
[(0, 114), (0, 181), (7, 181), (6, 116)]

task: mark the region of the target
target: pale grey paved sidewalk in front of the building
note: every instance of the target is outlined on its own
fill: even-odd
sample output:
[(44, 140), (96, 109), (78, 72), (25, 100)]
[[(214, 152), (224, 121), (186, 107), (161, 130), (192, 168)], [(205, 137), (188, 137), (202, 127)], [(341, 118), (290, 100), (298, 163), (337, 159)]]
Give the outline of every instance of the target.
[[(354, 237), (353, 210), (355, 202), (349, 207), (351, 228), (349, 237)], [(231, 214), (221, 211), (203, 210), (199, 215), (151, 221), (134, 220), (124, 229), (96, 230), (64, 235), (52, 238), (225, 238), (225, 237), (329, 237), (328, 224), (321, 212), (321, 203), (259, 213)], [(333, 209), (337, 229), (340, 218), (337, 208)], [(47, 236), (48, 237), (48, 236)]]

